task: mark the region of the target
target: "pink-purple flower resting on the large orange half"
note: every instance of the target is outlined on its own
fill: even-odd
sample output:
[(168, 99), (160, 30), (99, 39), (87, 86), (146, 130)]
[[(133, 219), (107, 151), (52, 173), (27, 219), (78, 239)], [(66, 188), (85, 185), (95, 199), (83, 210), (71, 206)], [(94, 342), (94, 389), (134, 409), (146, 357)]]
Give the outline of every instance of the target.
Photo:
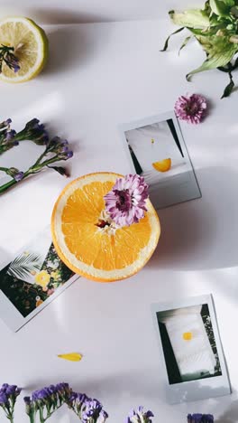
[(130, 226), (144, 217), (148, 195), (144, 178), (127, 174), (118, 178), (112, 191), (105, 195), (105, 211), (118, 226)]

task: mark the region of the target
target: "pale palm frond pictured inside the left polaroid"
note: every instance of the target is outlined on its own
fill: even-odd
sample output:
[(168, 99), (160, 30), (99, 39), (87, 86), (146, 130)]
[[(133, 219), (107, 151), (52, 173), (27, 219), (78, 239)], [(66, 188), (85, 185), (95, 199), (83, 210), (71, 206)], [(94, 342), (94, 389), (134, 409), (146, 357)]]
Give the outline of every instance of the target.
[(23, 253), (21, 256), (14, 258), (14, 261), (7, 269), (7, 274), (17, 279), (28, 277), (32, 271), (40, 270), (39, 260), (40, 256), (37, 254)]

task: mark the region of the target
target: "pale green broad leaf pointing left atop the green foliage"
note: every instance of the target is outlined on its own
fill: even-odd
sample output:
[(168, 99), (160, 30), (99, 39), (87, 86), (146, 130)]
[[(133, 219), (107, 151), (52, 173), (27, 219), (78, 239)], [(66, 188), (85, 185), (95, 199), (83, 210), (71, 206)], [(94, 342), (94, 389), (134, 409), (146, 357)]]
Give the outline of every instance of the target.
[(205, 29), (209, 26), (209, 16), (204, 10), (191, 9), (184, 12), (175, 12), (171, 10), (169, 15), (176, 25), (201, 29)]

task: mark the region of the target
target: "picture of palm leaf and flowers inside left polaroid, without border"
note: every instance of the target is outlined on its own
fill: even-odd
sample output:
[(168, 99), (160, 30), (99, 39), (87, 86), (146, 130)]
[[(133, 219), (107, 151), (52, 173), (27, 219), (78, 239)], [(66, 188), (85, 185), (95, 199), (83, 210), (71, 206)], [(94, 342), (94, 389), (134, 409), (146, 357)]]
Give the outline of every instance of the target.
[(74, 275), (44, 231), (0, 270), (0, 290), (23, 317), (30, 315)]

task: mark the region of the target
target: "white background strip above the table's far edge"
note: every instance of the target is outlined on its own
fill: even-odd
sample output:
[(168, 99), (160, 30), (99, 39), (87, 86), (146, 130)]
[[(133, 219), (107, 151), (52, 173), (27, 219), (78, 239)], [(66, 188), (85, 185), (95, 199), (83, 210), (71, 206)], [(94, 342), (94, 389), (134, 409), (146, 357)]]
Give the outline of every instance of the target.
[(199, 0), (2, 0), (0, 16), (23, 14), (43, 24), (158, 19), (170, 9), (192, 8)]

